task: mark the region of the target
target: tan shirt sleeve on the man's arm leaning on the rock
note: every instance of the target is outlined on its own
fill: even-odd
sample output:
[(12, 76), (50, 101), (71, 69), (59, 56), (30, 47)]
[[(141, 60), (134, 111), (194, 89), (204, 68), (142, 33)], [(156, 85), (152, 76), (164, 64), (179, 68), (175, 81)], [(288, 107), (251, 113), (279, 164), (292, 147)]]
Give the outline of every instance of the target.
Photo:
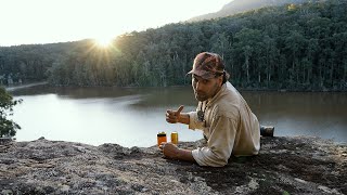
[(192, 155), (200, 166), (222, 167), (228, 164), (232, 153), (235, 122), (224, 116), (217, 117), (210, 132), (207, 146), (192, 151)]

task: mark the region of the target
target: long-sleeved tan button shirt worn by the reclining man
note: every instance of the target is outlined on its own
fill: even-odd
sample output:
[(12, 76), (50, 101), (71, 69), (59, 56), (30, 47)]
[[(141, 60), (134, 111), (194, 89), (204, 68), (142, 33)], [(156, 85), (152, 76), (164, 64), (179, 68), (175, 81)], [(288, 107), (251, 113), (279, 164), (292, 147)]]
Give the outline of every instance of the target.
[[(204, 121), (197, 110), (204, 110)], [(239, 91), (227, 82), (210, 100), (200, 102), (196, 112), (189, 113), (190, 129), (201, 129), (207, 136), (207, 146), (192, 151), (201, 166), (222, 167), (231, 154), (256, 155), (260, 148), (260, 130), (257, 117), (252, 113)]]

